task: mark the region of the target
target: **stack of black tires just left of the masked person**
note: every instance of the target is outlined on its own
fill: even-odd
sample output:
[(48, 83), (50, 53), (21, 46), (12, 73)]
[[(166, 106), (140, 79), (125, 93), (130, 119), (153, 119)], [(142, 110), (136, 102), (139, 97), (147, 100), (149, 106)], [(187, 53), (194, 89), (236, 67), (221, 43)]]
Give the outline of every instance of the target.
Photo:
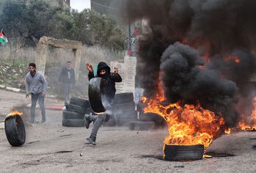
[(63, 126), (65, 127), (84, 127), (85, 114), (92, 112), (88, 100), (71, 97), (70, 103), (63, 110)]

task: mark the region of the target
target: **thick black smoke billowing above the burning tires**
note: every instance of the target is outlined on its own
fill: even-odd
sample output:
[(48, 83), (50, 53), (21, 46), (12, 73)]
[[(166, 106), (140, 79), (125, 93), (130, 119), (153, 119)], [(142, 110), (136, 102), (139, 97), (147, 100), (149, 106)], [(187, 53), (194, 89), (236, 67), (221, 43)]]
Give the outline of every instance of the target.
[(252, 108), (256, 1), (129, 0), (126, 7), (130, 20), (149, 21), (138, 43), (146, 96), (157, 92), (162, 71), (168, 102), (199, 102), (230, 127), (248, 114), (239, 107)]

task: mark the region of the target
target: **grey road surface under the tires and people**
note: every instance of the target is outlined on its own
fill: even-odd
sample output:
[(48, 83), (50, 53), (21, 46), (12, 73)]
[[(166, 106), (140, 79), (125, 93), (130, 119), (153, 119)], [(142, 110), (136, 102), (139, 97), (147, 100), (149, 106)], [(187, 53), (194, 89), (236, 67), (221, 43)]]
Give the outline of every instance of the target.
[[(25, 100), (20, 93), (3, 90), (0, 96), (1, 105), (6, 105), (3, 110)], [(165, 128), (130, 131), (103, 127), (97, 145), (90, 146), (85, 138), (91, 127), (63, 128), (61, 111), (47, 111), (46, 124), (35, 127), (26, 123), (28, 117), (24, 115), (26, 143), (22, 147), (11, 147), (0, 130), (0, 172), (256, 172), (255, 132), (216, 139), (207, 148), (213, 158), (170, 162), (162, 160)]]

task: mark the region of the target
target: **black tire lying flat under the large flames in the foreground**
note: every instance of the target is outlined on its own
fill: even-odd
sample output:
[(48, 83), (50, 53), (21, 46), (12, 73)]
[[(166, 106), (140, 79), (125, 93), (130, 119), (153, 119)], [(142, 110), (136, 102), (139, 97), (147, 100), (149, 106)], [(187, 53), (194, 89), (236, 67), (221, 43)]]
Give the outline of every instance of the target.
[(203, 158), (205, 147), (198, 145), (166, 145), (166, 161), (197, 161)]

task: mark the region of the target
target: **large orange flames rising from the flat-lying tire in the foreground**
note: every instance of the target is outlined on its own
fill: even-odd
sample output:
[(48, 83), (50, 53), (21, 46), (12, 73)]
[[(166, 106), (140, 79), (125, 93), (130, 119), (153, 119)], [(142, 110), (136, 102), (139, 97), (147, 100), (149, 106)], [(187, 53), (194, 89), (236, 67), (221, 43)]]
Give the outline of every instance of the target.
[(163, 91), (154, 99), (147, 100), (143, 97), (143, 100), (147, 104), (144, 112), (159, 114), (166, 119), (169, 136), (166, 136), (164, 144), (203, 144), (209, 147), (213, 139), (221, 135), (224, 119), (199, 105), (180, 106), (179, 103), (174, 103), (164, 106)]

